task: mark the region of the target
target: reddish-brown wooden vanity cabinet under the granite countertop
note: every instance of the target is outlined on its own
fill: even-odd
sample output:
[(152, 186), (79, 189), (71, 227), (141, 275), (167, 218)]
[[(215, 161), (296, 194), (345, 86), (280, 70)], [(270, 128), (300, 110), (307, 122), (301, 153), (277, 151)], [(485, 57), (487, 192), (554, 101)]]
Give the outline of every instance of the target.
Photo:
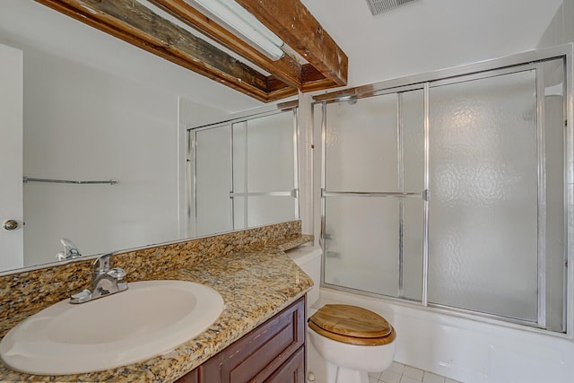
[(304, 381), (305, 297), (302, 297), (177, 383)]

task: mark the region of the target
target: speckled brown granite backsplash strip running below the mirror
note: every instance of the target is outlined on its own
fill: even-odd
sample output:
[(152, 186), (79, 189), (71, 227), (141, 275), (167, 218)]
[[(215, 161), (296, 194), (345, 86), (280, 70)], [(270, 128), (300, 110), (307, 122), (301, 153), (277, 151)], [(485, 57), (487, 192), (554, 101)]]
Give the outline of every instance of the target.
[[(183, 265), (197, 265), (231, 252), (272, 245), (283, 250), (309, 240), (312, 237), (301, 236), (300, 221), (283, 222), (118, 253), (112, 265), (126, 270), (128, 282), (162, 279)], [(88, 287), (92, 262), (88, 259), (0, 276), (0, 337), (22, 319)]]

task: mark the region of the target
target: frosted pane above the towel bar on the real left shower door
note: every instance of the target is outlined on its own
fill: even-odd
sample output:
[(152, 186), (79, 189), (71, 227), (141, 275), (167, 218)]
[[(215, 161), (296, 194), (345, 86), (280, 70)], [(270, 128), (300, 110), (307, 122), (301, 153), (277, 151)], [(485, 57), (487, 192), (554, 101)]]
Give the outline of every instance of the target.
[(326, 189), (396, 191), (396, 94), (337, 102), (326, 113)]

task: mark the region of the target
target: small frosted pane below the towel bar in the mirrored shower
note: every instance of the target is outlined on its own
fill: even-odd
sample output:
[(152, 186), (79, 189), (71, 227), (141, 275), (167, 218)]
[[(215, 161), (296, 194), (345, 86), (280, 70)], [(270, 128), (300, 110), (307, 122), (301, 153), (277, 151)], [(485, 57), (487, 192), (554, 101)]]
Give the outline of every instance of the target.
[(292, 221), (296, 203), (291, 196), (249, 196), (248, 227)]

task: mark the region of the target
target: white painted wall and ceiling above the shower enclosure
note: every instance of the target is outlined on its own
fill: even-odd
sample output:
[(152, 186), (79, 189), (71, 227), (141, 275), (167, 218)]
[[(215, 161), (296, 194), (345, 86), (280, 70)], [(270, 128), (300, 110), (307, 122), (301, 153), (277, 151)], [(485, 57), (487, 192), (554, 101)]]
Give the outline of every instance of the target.
[(562, 4), (422, 0), (373, 16), (366, 0), (301, 2), (349, 57), (351, 86), (533, 49)]

